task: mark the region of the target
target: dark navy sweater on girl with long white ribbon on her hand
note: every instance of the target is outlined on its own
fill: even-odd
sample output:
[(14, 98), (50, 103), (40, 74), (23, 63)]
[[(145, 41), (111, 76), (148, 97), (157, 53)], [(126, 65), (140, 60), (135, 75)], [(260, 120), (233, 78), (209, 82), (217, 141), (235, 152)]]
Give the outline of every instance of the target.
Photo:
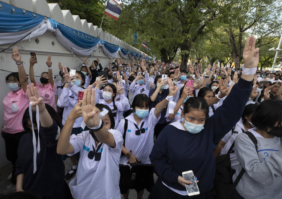
[(34, 174), (32, 136), (27, 133), (21, 137), (15, 175), (24, 174), (23, 189), (25, 192), (40, 197), (64, 192), (65, 165), (61, 155), (57, 154), (57, 131), (58, 124), (54, 119), (51, 127), (46, 128), (40, 125), (40, 152), (36, 157), (37, 169)]

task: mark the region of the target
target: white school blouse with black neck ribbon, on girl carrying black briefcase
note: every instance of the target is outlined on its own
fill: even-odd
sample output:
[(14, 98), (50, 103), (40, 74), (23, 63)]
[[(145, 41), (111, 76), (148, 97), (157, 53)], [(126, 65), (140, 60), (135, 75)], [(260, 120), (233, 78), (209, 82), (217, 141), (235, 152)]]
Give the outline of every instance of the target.
[[(132, 150), (132, 154), (135, 155), (144, 164), (151, 164), (149, 155), (154, 145), (154, 128), (161, 117), (160, 115), (159, 118), (156, 118), (154, 110), (155, 108), (152, 108), (149, 114), (141, 120), (139, 125), (137, 125), (133, 117), (135, 113), (132, 113), (125, 118), (128, 119), (128, 126), (125, 136), (125, 148), (128, 151)], [(135, 131), (137, 129), (134, 124), (136, 124), (140, 129), (142, 122), (144, 122), (142, 128), (145, 128), (145, 133), (136, 135)], [(120, 120), (120, 123), (117, 127), (117, 130), (120, 131), (122, 135), (124, 133), (124, 124), (125, 120), (122, 119)], [(128, 158), (123, 155), (120, 158), (120, 164), (124, 162), (127, 163)]]

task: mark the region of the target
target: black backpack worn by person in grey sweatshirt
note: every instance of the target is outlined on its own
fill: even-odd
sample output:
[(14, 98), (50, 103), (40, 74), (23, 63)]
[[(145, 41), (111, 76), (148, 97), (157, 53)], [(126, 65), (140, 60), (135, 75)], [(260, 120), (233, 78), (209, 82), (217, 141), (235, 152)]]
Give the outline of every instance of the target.
[[(253, 141), (256, 151), (258, 151), (258, 141), (256, 137), (249, 131), (243, 132), (249, 136), (251, 141)], [(233, 192), (245, 173), (245, 169), (242, 168), (236, 180), (232, 181), (232, 172), (231, 172), (231, 161), (230, 153), (233, 151), (234, 143), (231, 145), (227, 154), (216, 157), (215, 159), (215, 178), (214, 178), (214, 188), (213, 196), (214, 199), (232, 199)], [(233, 151), (234, 153), (234, 151)]]

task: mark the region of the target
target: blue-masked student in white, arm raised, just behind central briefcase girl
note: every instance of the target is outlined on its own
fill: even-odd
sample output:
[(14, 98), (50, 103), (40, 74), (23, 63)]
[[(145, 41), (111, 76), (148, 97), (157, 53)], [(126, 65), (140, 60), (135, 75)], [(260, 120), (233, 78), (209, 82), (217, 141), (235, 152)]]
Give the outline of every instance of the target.
[(137, 75), (135, 80), (133, 80), (133, 82), (129, 86), (129, 92), (134, 92), (133, 99), (138, 94), (145, 94), (147, 96), (149, 95), (151, 80), (148, 76), (147, 69), (143, 65), (143, 63), (142, 63), (142, 69), (144, 71), (144, 75), (143, 74)]

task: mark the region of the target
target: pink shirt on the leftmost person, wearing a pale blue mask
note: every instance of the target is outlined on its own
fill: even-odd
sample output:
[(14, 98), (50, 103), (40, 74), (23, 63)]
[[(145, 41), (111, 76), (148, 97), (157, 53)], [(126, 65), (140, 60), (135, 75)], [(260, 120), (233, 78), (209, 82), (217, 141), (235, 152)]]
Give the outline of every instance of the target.
[(14, 134), (24, 131), (22, 121), (28, 104), (28, 95), (23, 89), (20, 89), (16, 93), (11, 91), (4, 97), (4, 120), (2, 128), (4, 132)]

